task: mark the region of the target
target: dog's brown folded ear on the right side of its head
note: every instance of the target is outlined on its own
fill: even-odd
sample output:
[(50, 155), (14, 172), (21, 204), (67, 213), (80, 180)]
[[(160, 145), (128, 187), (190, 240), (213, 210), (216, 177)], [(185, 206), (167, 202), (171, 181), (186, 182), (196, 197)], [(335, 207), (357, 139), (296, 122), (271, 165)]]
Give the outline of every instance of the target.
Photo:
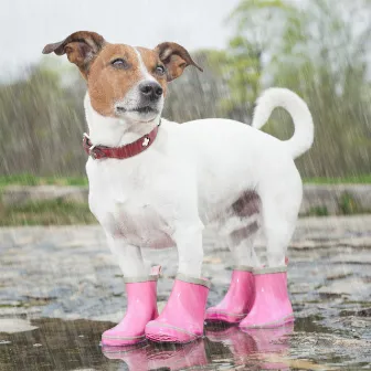
[(168, 82), (179, 77), (189, 65), (203, 71), (195, 64), (188, 51), (177, 43), (163, 42), (157, 45), (155, 51), (159, 54), (160, 61), (167, 68)]

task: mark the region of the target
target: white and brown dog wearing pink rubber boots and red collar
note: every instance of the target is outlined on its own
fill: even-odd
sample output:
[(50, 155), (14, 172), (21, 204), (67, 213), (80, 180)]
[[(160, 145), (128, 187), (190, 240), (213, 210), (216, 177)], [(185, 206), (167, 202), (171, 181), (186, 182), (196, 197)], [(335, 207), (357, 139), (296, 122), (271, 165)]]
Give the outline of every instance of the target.
[[(80, 31), (43, 50), (52, 52), (66, 54), (87, 82), (88, 203), (126, 283), (126, 316), (103, 333), (103, 346), (146, 338), (186, 343), (203, 335), (205, 319), (245, 331), (293, 322), (285, 255), (303, 198), (294, 159), (314, 140), (305, 102), (271, 88), (258, 99), (252, 126), (216, 118), (179, 125), (161, 118), (168, 83), (187, 66), (202, 71), (183, 46), (132, 47)], [(278, 106), (295, 124), (286, 141), (258, 130)], [(205, 310), (202, 232), (209, 225), (226, 239), (236, 266), (223, 300)], [(254, 250), (259, 231), (265, 263)], [(146, 266), (141, 248), (172, 246), (178, 275), (159, 315), (160, 267)]]

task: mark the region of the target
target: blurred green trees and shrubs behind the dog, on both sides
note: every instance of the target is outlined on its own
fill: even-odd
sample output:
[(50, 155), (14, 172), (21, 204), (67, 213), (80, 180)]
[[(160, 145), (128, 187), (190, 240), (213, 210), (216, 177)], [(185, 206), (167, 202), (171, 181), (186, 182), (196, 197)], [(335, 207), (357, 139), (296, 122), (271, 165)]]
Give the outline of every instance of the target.
[[(288, 87), (316, 126), (314, 148), (297, 161), (303, 176), (369, 174), (370, 19), (369, 0), (243, 0), (226, 20), (234, 29), (227, 47), (193, 52), (205, 72), (189, 68), (171, 84), (163, 116), (250, 124), (262, 89)], [(1, 85), (0, 174), (84, 174), (84, 93), (77, 72), (54, 59)], [(288, 115), (277, 110), (266, 130), (288, 138)]]

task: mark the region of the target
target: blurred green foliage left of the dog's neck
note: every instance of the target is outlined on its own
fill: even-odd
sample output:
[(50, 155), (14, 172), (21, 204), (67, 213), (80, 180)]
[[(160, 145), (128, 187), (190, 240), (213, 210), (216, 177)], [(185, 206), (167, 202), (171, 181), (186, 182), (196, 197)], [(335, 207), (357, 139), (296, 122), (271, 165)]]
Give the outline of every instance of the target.
[(0, 86), (0, 173), (82, 173), (85, 124), (76, 92), (41, 66)]

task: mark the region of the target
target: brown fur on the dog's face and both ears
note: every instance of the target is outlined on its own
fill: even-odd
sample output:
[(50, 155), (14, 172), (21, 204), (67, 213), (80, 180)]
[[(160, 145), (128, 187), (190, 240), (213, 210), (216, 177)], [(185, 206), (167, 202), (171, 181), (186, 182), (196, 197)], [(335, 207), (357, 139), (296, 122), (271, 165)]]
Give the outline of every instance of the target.
[[(158, 83), (163, 95), (167, 82), (177, 78), (188, 65), (199, 67), (188, 51), (176, 43), (162, 43), (155, 50), (137, 47), (142, 62)], [(99, 34), (78, 31), (65, 40), (47, 44), (43, 53), (54, 52), (67, 54), (68, 61), (76, 64), (87, 81), (87, 88), (93, 108), (103, 116), (115, 117), (115, 103), (125, 98), (126, 94), (144, 78), (140, 71), (138, 54), (135, 49), (124, 44), (107, 43)], [(115, 67), (112, 62), (123, 59), (125, 66)], [(156, 68), (162, 65), (166, 74)]]

